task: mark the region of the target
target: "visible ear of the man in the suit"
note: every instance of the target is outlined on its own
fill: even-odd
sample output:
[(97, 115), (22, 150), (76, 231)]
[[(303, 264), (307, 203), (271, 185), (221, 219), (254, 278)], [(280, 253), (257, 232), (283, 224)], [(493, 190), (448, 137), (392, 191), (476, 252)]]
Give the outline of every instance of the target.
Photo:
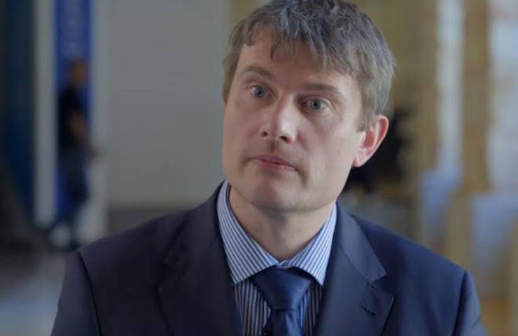
[(363, 137), (360, 148), (358, 148), (358, 152), (354, 156), (353, 167), (362, 166), (374, 155), (381, 141), (385, 139), (387, 130), (388, 118), (386, 116), (376, 116), (370, 127), (363, 131), (365, 132), (365, 137)]

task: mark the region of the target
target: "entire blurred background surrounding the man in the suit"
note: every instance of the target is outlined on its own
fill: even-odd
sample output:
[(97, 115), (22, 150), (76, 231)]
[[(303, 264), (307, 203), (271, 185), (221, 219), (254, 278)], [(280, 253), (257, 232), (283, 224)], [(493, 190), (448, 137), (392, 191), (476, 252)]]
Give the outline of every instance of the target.
[[(71, 248), (218, 186), (228, 34), (263, 2), (0, 0), (1, 335), (50, 333)], [(356, 3), (398, 72), (339, 201), (469, 269), (518, 335), (518, 1)]]

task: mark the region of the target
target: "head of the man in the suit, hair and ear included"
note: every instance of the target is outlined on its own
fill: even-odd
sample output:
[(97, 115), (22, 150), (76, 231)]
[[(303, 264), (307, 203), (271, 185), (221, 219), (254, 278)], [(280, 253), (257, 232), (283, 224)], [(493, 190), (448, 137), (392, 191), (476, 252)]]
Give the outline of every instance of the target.
[(334, 202), (386, 134), (393, 57), (352, 3), (271, 1), (232, 31), (224, 66), (223, 170), (257, 207)]

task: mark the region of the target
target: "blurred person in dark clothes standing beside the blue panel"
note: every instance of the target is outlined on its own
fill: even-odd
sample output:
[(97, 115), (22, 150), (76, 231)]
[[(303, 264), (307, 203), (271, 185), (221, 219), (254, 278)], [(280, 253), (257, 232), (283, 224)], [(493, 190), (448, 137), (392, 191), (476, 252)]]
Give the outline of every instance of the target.
[(94, 156), (87, 125), (87, 106), (82, 90), (87, 83), (87, 66), (81, 59), (73, 59), (67, 69), (66, 83), (57, 102), (57, 195), (55, 220), (47, 229), (48, 235), (59, 226), (69, 231), (67, 248), (80, 246), (78, 216), (88, 200), (87, 163)]

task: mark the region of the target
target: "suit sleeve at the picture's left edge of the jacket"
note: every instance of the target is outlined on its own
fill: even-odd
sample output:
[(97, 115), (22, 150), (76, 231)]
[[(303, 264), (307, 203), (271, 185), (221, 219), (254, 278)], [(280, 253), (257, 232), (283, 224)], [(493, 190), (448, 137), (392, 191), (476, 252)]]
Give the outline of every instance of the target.
[(66, 260), (65, 275), (51, 336), (101, 335), (90, 279), (78, 251)]

